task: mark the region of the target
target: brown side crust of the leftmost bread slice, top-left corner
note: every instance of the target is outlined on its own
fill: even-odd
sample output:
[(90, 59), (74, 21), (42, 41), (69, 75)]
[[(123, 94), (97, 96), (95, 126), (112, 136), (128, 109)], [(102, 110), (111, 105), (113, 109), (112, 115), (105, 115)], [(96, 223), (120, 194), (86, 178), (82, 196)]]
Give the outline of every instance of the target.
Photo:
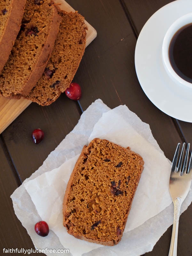
[(13, 0), (4, 33), (0, 38), (0, 72), (3, 69), (19, 33), (26, 0)]

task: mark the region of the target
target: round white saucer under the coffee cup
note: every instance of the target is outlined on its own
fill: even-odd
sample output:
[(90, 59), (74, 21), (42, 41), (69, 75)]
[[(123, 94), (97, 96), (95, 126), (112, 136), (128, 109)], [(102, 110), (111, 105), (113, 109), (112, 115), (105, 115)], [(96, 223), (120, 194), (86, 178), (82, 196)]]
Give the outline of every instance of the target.
[(167, 115), (186, 122), (192, 122), (192, 89), (181, 87), (168, 76), (162, 60), (162, 44), (171, 24), (189, 12), (192, 12), (191, 0), (165, 5), (146, 22), (135, 48), (137, 77), (149, 100)]

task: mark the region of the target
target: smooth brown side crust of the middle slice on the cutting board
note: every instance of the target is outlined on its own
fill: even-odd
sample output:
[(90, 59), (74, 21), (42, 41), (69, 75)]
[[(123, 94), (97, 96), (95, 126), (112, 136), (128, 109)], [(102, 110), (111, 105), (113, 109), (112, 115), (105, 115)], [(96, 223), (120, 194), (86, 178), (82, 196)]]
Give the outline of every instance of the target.
[[(25, 85), (24, 85), (23, 89), (19, 92), (23, 96), (27, 95), (31, 91), (31, 89), (35, 86), (36, 82), (42, 76), (44, 69), (46, 68), (47, 62), (48, 62), (49, 58), (51, 57), (51, 53), (53, 50), (55, 39), (59, 32), (59, 26), (60, 26), (60, 21), (61, 21), (61, 17), (58, 14), (58, 11), (54, 4), (53, 4), (53, 7), (54, 7), (54, 13), (53, 13), (53, 20), (52, 20), (52, 24), (50, 27), (49, 35), (44, 44), (44, 47), (42, 48), (42, 52), (39, 56), (39, 59), (31, 73), (31, 75), (28, 77), (28, 79), (24, 83)], [(16, 97), (18, 97), (18, 96), (16, 95)], [(13, 96), (13, 98), (14, 98), (14, 96)]]

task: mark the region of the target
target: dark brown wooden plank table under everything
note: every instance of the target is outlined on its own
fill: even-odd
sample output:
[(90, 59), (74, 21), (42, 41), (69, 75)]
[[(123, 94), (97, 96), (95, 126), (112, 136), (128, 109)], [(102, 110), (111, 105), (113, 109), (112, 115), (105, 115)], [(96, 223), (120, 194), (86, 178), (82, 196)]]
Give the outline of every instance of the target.
[[(10, 195), (43, 164), (48, 154), (77, 124), (82, 109), (94, 100), (100, 98), (110, 108), (126, 104), (150, 125), (153, 136), (170, 160), (178, 142), (192, 140), (192, 124), (176, 120), (156, 108), (142, 91), (134, 67), (135, 44), (141, 28), (154, 12), (170, 2), (68, 0), (98, 32), (97, 38), (87, 47), (74, 77), (74, 82), (82, 87), (83, 96), (79, 103), (64, 94), (47, 107), (32, 103), (0, 135), (0, 255), (3, 255), (3, 248), (34, 248), (26, 229), (14, 214)], [(45, 132), (45, 139), (38, 145), (30, 138), (36, 128)], [(178, 256), (192, 255), (191, 215), (192, 205), (180, 217)], [(153, 251), (145, 255), (168, 255), (171, 233), (172, 227)]]

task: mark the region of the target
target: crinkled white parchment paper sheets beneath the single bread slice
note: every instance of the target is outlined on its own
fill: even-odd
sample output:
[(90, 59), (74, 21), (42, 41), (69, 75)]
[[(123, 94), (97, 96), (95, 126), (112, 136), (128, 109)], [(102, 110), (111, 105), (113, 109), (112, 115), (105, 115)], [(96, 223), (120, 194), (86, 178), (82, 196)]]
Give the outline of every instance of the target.
[[(152, 250), (160, 236), (172, 224), (173, 206), (170, 204), (171, 199), (169, 194), (167, 194), (168, 185), (165, 186), (165, 183), (167, 184), (168, 182), (170, 173), (170, 170), (168, 170), (170, 168), (168, 160), (164, 157), (156, 140), (154, 140), (148, 124), (141, 122), (141, 120), (125, 106), (119, 106), (114, 110), (109, 110), (110, 109), (103, 104), (101, 100), (96, 100), (92, 103), (92, 105), (82, 114), (79, 123), (74, 130), (70, 132), (60, 145), (48, 156), (44, 164), (12, 194), (11, 197), (15, 213), (23, 226), (27, 229), (36, 248), (70, 249), (70, 252), (74, 256), (81, 255), (83, 252), (85, 252), (86, 255), (119, 255), (119, 253), (121, 253), (122, 255), (136, 256)], [(113, 118), (110, 117), (111, 113), (113, 114)], [(99, 122), (97, 123), (98, 120)], [(108, 131), (106, 128), (104, 131), (105, 120), (108, 122)], [(119, 125), (120, 122), (123, 124), (121, 127)], [(116, 136), (113, 135), (113, 138), (111, 138), (110, 136), (112, 135), (113, 127), (116, 127)], [(122, 129), (122, 127), (125, 136), (122, 135), (123, 130), (119, 130), (120, 128)], [(105, 132), (107, 132), (107, 134), (105, 134)], [(133, 136), (131, 136), (131, 134)], [(91, 137), (89, 139), (90, 135)], [(83, 145), (87, 145), (88, 140), (91, 140), (94, 136), (100, 138), (104, 138), (102, 136), (105, 136), (106, 139), (114, 141), (122, 146), (131, 146), (131, 149), (140, 153), (145, 161), (145, 169), (141, 176), (140, 184), (133, 200), (132, 210), (126, 225), (125, 231), (130, 231), (124, 232), (121, 242), (113, 247), (101, 246), (98, 248), (100, 245), (75, 239), (73, 236), (68, 235), (65, 228), (62, 227), (62, 200), (70, 172), (72, 172), (76, 162), (77, 154), (81, 152)], [(135, 146), (133, 138), (140, 139), (142, 143), (147, 145), (146, 152), (141, 149), (142, 143), (139, 144), (138, 148)], [(122, 141), (122, 139), (124, 140)], [(120, 143), (121, 141), (122, 143)], [(158, 162), (158, 168), (151, 168), (150, 164), (148, 164), (148, 150), (150, 150), (150, 152), (153, 151), (152, 156), (154, 159), (152, 159), (151, 163), (155, 164), (155, 162), (160, 161)], [(75, 158), (73, 158), (74, 156)], [(160, 166), (165, 167), (163, 172), (164, 175), (161, 176)], [(154, 177), (154, 172), (158, 174), (158, 179), (156, 179), (153, 186), (149, 180)], [(146, 180), (144, 179), (145, 176), (147, 177)], [(44, 180), (47, 180), (47, 182), (44, 182)], [(161, 181), (163, 184), (161, 184)], [(147, 186), (147, 188), (145, 186)], [(152, 196), (156, 189), (152, 190), (152, 193), (150, 193), (150, 188), (153, 189), (155, 186), (161, 186), (161, 188), (164, 189), (161, 198), (166, 196), (166, 199), (160, 200), (161, 206), (159, 206), (159, 202), (157, 201), (157, 198), (159, 200), (160, 197), (158, 196), (157, 198), (154, 198)], [(54, 192), (52, 190), (46, 192), (50, 187), (53, 188)], [(145, 188), (147, 189), (146, 191), (144, 191)], [(38, 195), (36, 194), (36, 191), (39, 192)], [(138, 203), (141, 204), (141, 201), (143, 201), (140, 200), (141, 193), (147, 202), (153, 201), (152, 204), (155, 206), (155, 209), (154, 207), (151, 207), (153, 209), (148, 212), (148, 216), (147, 214), (144, 214), (145, 217), (140, 216), (140, 210), (134, 211), (134, 208), (138, 206)], [(54, 202), (52, 202), (51, 199), (52, 195)], [(41, 199), (44, 198), (44, 200), (36, 200), (37, 197)], [(46, 200), (47, 198), (48, 200)], [(191, 200), (192, 193), (190, 191), (182, 205), (182, 211), (188, 207)], [(39, 201), (43, 202), (43, 204), (40, 205)], [(46, 201), (49, 202), (46, 203)], [(36, 204), (37, 208), (33, 202)], [(54, 203), (54, 207), (52, 207), (51, 203)], [(146, 203), (146, 205), (147, 204), (148, 203)], [(45, 212), (44, 207), (52, 209), (51, 211), (48, 210)], [(147, 208), (148, 207), (145, 207), (146, 210)], [(132, 212), (138, 214), (137, 217), (135, 217)], [(141, 217), (141, 219), (138, 221), (139, 217)], [(46, 220), (51, 229), (49, 236), (44, 238), (37, 236), (34, 232), (34, 224), (40, 219)], [(68, 242), (66, 243), (66, 241)], [(48, 253), (47, 255), (52, 255), (52, 253)]]

